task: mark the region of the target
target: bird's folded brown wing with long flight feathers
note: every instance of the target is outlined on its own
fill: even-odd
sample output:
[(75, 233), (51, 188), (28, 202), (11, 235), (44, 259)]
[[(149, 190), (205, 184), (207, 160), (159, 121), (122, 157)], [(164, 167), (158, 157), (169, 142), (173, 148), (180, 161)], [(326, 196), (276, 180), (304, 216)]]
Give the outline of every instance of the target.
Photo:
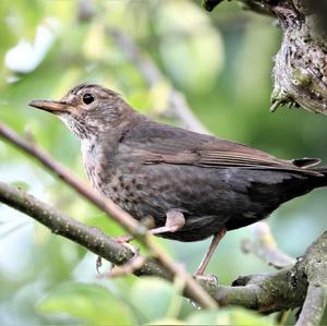
[(171, 164), (198, 167), (306, 170), (320, 162), (315, 158), (278, 159), (262, 150), (214, 136), (196, 134), (162, 124), (138, 129), (125, 140), (131, 155), (145, 165)]

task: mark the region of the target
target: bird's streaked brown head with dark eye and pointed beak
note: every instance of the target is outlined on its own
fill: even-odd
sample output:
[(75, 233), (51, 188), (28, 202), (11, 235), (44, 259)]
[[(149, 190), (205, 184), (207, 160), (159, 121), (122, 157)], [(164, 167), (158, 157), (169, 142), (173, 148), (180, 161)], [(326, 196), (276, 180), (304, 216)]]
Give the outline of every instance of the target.
[(32, 100), (29, 106), (58, 116), (81, 140), (119, 126), (133, 112), (116, 92), (86, 83), (60, 100)]

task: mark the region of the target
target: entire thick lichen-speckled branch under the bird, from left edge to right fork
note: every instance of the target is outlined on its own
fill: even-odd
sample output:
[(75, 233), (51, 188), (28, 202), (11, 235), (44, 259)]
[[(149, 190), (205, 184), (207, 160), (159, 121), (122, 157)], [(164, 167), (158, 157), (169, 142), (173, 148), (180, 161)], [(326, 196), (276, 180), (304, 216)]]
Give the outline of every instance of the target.
[[(118, 244), (100, 230), (86, 227), (34, 196), (3, 182), (0, 182), (0, 202), (27, 214), (49, 228), (53, 233), (70, 239), (114, 264), (124, 264), (132, 256), (129, 249)], [(324, 261), (318, 261), (318, 264), (322, 262), (326, 264), (326, 238), (327, 232), (307, 250), (303, 258), (292, 268), (284, 268), (266, 275), (241, 277), (233, 282), (233, 287), (218, 286), (217, 282), (207, 280), (201, 281), (202, 286), (221, 305), (242, 305), (262, 313), (271, 313), (301, 306), (307, 287), (306, 273), (315, 270), (316, 277), (319, 280), (322, 279), (320, 273), (324, 266), (320, 265), (317, 268), (317, 266), (314, 266), (310, 262), (314, 262), (313, 258), (316, 257), (318, 251), (322, 254), (325, 252), (323, 254)], [(137, 276), (153, 275), (168, 280), (173, 278), (172, 273), (150, 259), (147, 259), (134, 274)], [(315, 280), (315, 276), (312, 276), (312, 279)], [(313, 285), (317, 286), (317, 283)], [(189, 297), (193, 298), (192, 295)], [(322, 313), (324, 306), (317, 304), (320, 302), (318, 301), (320, 295), (314, 293), (312, 303), (314, 303), (314, 307), (318, 307), (318, 311)], [(305, 310), (304, 305), (303, 312)]]

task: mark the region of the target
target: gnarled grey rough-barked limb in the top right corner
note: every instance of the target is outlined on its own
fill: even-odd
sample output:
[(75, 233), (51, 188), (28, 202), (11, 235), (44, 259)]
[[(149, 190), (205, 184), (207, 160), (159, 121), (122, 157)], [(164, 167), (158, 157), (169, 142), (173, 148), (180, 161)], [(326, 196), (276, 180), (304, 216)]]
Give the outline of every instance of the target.
[[(205, 0), (213, 10), (221, 1)], [(318, 0), (243, 0), (279, 20), (283, 32), (272, 71), (271, 111), (280, 105), (327, 114), (327, 3)]]

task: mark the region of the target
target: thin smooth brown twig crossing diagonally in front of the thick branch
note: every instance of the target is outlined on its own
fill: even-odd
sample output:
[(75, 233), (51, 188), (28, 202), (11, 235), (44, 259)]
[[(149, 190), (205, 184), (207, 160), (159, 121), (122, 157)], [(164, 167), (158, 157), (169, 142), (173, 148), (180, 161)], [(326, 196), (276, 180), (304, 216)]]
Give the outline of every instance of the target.
[(20, 137), (14, 131), (4, 123), (0, 123), (0, 136), (9, 141), (11, 144), (23, 149), (26, 154), (32, 155), (40, 161), (47, 169), (59, 176), (66, 184), (76, 190), (82, 196), (87, 198), (98, 208), (106, 212), (112, 219), (122, 226), (129, 233), (137, 238), (173, 275), (185, 281), (185, 290), (189, 294), (207, 309), (217, 307), (216, 302), (206, 293), (206, 291), (190, 276), (184, 269), (180, 268), (165, 251), (153, 241), (153, 237), (148, 232), (144, 232), (144, 228), (126, 212), (117, 206), (110, 198), (104, 198), (101, 195), (85, 185), (76, 177), (72, 174), (65, 167), (52, 159), (47, 153), (41, 150), (34, 144)]

